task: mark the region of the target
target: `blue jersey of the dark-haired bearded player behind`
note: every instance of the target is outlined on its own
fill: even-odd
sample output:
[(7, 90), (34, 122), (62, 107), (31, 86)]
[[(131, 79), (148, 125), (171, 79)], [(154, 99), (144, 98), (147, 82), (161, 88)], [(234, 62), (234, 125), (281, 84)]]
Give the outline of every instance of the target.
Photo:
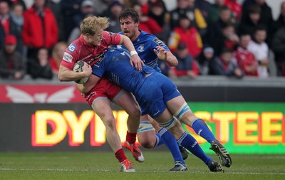
[[(156, 46), (161, 46), (165, 48), (165, 51), (170, 51), (170, 49), (156, 36), (146, 33), (145, 31), (140, 31), (140, 36), (133, 41), (133, 46), (135, 46), (135, 51), (138, 52), (140, 59), (152, 68), (154, 68), (157, 72), (161, 73), (160, 68), (157, 65), (157, 55), (153, 51), (156, 49)], [(123, 34), (120, 32), (120, 34)], [(118, 48), (125, 48), (123, 45), (118, 45)]]

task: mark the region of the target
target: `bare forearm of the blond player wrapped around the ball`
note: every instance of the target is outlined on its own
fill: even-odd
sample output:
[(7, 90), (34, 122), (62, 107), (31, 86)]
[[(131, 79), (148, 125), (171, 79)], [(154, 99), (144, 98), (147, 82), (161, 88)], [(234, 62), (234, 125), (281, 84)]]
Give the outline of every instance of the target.
[(77, 73), (74, 72), (73, 70), (66, 68), (63, 65), (60, 65), (58, 70), (58, 79), (60, 81), (79, 80), (81, 78), (89, 77), (91, 73), (92, 73), (92, 68), (87, 63), (84, 63), (83, 71)]

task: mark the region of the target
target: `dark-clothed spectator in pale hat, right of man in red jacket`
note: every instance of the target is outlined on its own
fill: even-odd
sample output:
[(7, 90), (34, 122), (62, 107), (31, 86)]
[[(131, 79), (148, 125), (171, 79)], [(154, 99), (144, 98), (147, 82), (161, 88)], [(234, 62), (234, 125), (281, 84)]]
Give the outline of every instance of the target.
[(214, 49), (210, 46), (203, 48), (203, 53), (197, 58), (199, 63), (199, 75), (209, 75), (209, 63), (214, 59)]

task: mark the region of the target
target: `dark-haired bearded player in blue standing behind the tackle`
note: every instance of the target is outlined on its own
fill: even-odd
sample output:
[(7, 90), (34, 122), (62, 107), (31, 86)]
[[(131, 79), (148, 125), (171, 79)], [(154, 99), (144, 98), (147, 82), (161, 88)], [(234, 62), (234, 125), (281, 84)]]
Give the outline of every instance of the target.
[[(135, 46), (135, 50), (138, 52), (138, 55), (143, 60), (145, 65), (154, 68), (159, 73), (161, 73), (161, 70), (157, 65), (157, 60), (164, 60), (165, 63), (170, 66), (177, 65), (177, 58), (170, 52), (170, 49), (165, 45), (165, 43), (160, 41), (160, 39), (156, 36), (139, 29), (139, 14), (137, 11), (134, 9), (123, 10), (119, 16), (119, 21), (122, 30), (120, 33), (130, 38), (130, 40), (133, 42), (133, 45)], [(119, 45), (118, 48), (125, 47)], [(170, 134), (170, 132), (167, 132), (164, 127), (160, 127), (157, 122), (152, 120), (152, 118), (146, 114), (143, 108), (141, 109), (142, 117), (140, 118), (140, 127), (138, 129), (138, 140), (142, 147), (154, 148), (160, 144), (165, 144), (172, 153), (175, 162), (179, 162), (178, 159), (180, 158), (180, 154), (177, 153), (178, 150), (176, 139)], [(155, 127), (155, 129), (152, 126)], [(155, 130), (157, 131), (156, 134)], [(192, 143), (194, 144), (195, 142)], [(126, 144), (125, 147), (128, 147), (128, 144)], [(180, 146), (182, 155), (185, 154), (183, 153), (183, 149), (184, 148)], [(205, 154), (202, 149), (201, 151), (193, 149), (195, 148), (192, 148), (191, 152), (200, 159), (204, 159), (204, 162), (206, 163), (207, 158), (204, 158)], [(185, 152), (187, 158), (187, 151)], [(184, 157), (183, 159), (186, 158)], [(181, 166), (176, 166), (175, 168), (181, 169)]]

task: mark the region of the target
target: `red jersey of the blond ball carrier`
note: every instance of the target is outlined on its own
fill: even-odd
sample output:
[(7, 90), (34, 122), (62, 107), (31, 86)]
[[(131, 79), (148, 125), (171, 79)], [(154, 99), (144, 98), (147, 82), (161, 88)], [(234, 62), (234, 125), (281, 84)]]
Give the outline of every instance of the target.
[(119, 43), (120, 34), (118, 33), (104, 31), (100, 46), (90, 45), (81, 35), (66, 48), (63, 54), (63, 60), (61, 60), (61, 65), (72, 70), (78, 60), (83, 60), (92, 66), (98, 60), (104, 58), (104, 53), (107, 51), (108, 46), (118, 45)]

